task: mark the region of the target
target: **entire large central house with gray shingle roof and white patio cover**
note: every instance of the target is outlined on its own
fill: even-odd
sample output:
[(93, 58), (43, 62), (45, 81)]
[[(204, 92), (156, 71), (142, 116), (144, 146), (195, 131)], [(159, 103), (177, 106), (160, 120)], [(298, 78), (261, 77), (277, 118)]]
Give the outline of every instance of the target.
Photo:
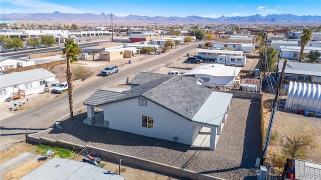
[[(193, 144), (201, 128), (209, 127), (209, 148), (215, 149), (232, 96), (172, 75), (124, 92), (97, 90), (84, 104), (88, 124), (102, 120), (106, 128), (184, 144)], [(96, 119), (95, 107), (103, 109), (103, 119)]]

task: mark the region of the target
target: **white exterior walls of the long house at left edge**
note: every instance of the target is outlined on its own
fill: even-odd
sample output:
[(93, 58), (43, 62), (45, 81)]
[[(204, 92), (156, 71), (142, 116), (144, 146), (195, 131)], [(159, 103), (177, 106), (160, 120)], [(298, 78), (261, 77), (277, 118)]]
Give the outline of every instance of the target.
[[(23, 84), (17, 84), (10, 87), (3, 87), (2, 93), (5, 91), (6, 93), (0, 94), (0, 101), (5, 101), (6, 98), (10, 97), (12, 93), (17, 92), (18, 90), (25, 90), (25, 95), (40, 93), (44, 91), (44, 87), (46, 85), (46, 81), (54, 81), (55, 77), (45, 78), (33, 82), (26, 82)], [(40, 81), (44, 81), (43, 84), (40, 84)], [(6, 90), (3, 90), (6, 89)]]

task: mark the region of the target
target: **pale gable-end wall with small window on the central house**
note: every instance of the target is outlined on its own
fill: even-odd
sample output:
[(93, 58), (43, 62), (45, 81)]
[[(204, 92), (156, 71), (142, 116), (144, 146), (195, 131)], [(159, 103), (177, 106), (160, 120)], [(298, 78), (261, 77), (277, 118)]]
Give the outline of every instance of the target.
[[(174, 136), (178, 136), (177, 142), (193, 143), (196, 137), (195, 134), (199, 132), (198, 128), (185, 131), (192, 129), (193, 125), (196, 126), (197, 123), (148, 99), (146, 106), (138, 105), (139, 98), (136, 97), (99, 106), (99, 108), (104, 109), (104, 120), (109, 121), (109, 128), (172, 141), (174, 141)], [(122, 113), (124, 110), (126, 113)], [(153, 117), (153, 128), (142, 127), (142, 115)], [(182, 132), (185, 133), (180, 134)]]

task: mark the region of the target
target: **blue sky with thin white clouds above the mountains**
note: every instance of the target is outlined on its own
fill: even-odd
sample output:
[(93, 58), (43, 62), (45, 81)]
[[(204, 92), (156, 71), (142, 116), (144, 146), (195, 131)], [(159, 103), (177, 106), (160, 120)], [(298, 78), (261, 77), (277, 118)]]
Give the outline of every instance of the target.
[(321, 0), (1, 0), (0, 13), (113, 13), (217, 18), (291, 13), (321, 15)]

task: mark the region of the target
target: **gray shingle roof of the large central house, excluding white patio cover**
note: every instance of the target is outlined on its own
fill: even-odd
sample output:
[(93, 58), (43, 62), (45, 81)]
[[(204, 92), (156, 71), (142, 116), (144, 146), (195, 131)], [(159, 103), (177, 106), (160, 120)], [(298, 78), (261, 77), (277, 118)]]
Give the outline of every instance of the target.
[(202, 88), (201, 85), (192, 81), (190, 77), (167, 75), (122, 93), (97, 90), (84, 104), (96, 106), (136, 96), (144, 96), (188, 119), (192, 119), (212, 92), (206, 87)]

